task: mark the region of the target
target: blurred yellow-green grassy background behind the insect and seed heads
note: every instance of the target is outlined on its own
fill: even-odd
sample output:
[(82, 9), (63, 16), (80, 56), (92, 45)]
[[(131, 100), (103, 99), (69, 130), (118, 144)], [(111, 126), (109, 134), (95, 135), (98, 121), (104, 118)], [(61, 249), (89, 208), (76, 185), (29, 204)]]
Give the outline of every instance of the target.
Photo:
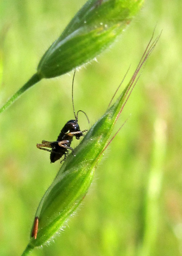
[[(34, 74), (83, 3), (1, 0), (1, 105)], [(156, 36), (163, 30), (117, 127), (131, 116), (97, 168), (82, 206), (55, 242), (32, 256), (182, 255), (181, 10), (181, 0), (147, 0), (121, 38), (76, 72), (75, 108), (93, 124), (130, 64), (123, 88), (131, 78), (154, 27)], [(36, 208), (59, 170), (60, 162), (50, 164), (49, 153), (36, 143), (55, 140), (73, 118), (72, 77), (70, 72), (42, 80), (0, 116), (2, 256), (23, 252)], [(82, 114), (79, 124), (89, 127)]]

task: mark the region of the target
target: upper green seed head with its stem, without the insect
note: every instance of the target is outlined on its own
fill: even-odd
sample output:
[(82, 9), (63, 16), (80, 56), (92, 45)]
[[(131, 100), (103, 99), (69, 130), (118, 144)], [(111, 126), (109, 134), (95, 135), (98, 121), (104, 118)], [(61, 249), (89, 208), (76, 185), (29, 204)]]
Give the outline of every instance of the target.
[(89, 62), (123, 32), (144, 0), (89, 0), (41, 58), (37, 72), (2, 106), (0, 113), (42, 78), (60, 76)]

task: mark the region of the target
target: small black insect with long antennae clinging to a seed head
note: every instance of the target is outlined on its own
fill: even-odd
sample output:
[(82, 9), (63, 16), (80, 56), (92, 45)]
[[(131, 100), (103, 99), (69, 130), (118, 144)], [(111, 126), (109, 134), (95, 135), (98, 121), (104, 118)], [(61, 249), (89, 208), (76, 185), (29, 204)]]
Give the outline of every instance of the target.
[[(74, 82), (74, 77), (75, 77), (75, 72), (73, 75), (73, 82)], [(72, 104), (73, 104), (73, 82), (72, 82)], [(51, 163), (54, 163), (55, 161), (59, 160), (63, 155), (64, 155), (63, 160), (65, 160), (68, 149), (73, 151), (73, 148), (70, 147), (71, 142), (73, 140), (73, 136), (75, 136), (76, 139), (79, 140), (80, 137), (83, 136), (83, 133), (87, 132), (87, 130), (81, 131), (79, 128), (78, 113), (83, 112), (86, 117), (87, 117), (87, 114), (82, 110), (79, 110), (77, 114), (75, 114), (74, 104), (73, 104), (73, 112), (74, 112), (75, 119), (69, 120), (65, 124), (59, 136), (57, 137), (56, 141), (50, 142), (47, 140), (43, 140), (41, 144), (37, 144), (37, 148), (51, 152), (50, 154)], [(89, 122), (88, 117), (87, 117), (87, 120)]]

